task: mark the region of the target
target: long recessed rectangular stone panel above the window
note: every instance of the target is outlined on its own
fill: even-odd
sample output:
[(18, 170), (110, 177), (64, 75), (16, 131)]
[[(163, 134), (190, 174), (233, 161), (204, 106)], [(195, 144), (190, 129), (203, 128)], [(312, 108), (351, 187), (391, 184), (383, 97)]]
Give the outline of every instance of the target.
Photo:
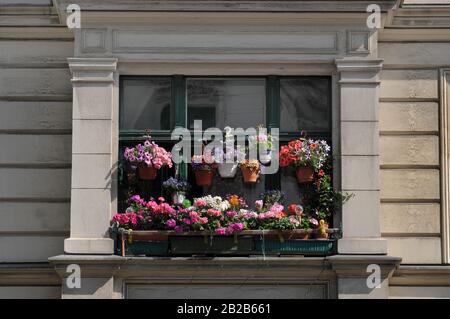
[(114, 29), (112, 52), (128, 53), (320, 53), (338, 52), (337, 32)]

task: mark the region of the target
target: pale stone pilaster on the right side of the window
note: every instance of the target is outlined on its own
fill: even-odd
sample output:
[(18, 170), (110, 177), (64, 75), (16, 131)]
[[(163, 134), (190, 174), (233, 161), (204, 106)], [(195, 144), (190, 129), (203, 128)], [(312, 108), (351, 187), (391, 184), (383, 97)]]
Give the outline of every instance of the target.
[[(382, 60), (337, 59), (340, 74), (342, 190), (341, 254), (386, 254), (380, 233), (378, 90)], [(364, 145), (360, 147), (359, 145)]]

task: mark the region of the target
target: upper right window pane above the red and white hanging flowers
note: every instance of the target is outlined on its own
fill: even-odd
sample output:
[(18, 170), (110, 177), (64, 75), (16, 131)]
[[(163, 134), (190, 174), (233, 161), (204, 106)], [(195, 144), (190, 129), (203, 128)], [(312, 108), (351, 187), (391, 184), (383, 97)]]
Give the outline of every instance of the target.
[(281, 131), (331, 131), (330, 78), (282, 79), (280, 86)]

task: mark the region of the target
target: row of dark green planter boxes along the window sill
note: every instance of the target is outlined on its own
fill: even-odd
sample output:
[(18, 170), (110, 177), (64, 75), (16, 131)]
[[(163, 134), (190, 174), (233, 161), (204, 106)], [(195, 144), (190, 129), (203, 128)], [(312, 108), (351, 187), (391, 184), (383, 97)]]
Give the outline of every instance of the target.
[[(337, 233), (337, 229), (328, 229)], [(121, 231), (117, 253), (121, 256), (250, 256), (250, 255), (330, 255), (335, 239), (299, 239), (313, 230), (244, 230), (233, 235), (210, 232)]]

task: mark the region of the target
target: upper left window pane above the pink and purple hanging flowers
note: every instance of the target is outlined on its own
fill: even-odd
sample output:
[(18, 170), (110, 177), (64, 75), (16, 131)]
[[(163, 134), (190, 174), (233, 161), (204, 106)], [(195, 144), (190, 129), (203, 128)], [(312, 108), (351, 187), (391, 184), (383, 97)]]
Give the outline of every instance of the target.
[(121, 129), (170, 130), (168, 78), (124, 79)]

